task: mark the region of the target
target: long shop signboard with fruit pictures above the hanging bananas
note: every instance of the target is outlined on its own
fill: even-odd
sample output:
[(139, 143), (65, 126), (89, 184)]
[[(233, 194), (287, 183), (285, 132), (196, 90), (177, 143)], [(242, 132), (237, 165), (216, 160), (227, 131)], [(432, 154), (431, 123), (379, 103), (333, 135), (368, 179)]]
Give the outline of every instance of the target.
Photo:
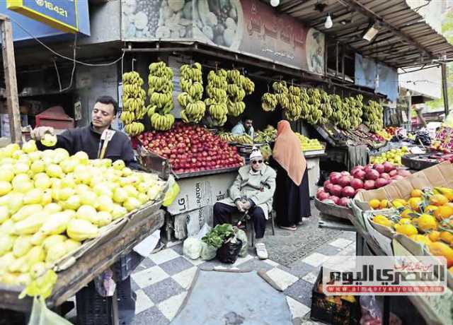
[(122, 40), (194, 40), (324, 73), (324, 35), (259, 0), (122, 0)]

